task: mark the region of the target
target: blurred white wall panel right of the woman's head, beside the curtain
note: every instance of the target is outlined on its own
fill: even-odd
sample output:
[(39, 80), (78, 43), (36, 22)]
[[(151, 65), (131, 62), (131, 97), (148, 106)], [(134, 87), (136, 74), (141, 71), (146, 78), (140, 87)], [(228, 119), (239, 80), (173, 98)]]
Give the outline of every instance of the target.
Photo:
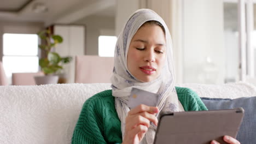
[(184, 82), (207, 83), (206, 57), (216, 65), (215, 79), (224, 82), (225, 50), (222, 0), (184, 0)]

